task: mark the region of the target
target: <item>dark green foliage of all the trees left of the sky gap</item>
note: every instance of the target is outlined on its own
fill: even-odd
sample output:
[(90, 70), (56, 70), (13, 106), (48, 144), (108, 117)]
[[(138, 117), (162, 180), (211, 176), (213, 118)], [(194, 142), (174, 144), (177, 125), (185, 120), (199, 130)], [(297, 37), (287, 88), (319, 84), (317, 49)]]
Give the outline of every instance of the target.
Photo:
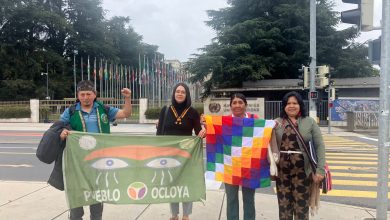
[(157, 49), (130, 18), (107, 19), (101, 0), (2, 0), (0, 100), (44, 99), (46, 72), (52, 99), (73, 96), (74, 54), (79, 81), (81, 57), (138, 66), (140, 53), (151, 60)]

